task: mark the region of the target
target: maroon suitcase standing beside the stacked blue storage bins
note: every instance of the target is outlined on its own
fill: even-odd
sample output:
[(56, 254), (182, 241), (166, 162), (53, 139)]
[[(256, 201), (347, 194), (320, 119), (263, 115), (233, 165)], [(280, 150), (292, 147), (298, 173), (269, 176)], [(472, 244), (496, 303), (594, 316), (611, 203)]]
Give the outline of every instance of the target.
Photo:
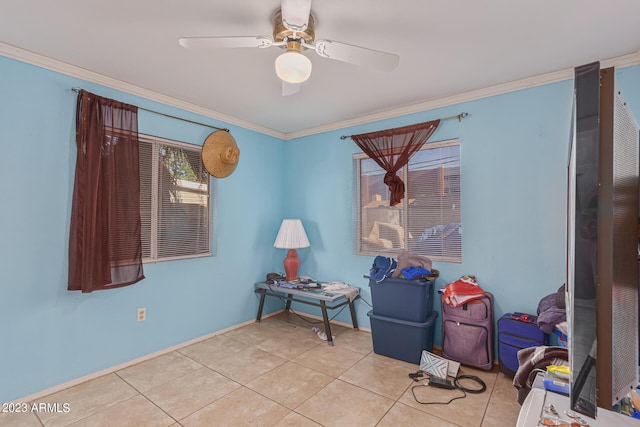
[(463, 365), (493, 368), (493, 295), (459, 307), (442, 302), (442, 357)]

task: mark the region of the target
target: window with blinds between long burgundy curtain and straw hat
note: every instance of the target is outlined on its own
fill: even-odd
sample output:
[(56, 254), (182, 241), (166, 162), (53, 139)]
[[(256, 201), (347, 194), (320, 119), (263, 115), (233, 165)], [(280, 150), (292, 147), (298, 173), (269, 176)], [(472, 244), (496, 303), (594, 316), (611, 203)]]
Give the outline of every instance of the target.
[(140, 135), (145, 262), (212, 254), (211, 190), (202, 147)]

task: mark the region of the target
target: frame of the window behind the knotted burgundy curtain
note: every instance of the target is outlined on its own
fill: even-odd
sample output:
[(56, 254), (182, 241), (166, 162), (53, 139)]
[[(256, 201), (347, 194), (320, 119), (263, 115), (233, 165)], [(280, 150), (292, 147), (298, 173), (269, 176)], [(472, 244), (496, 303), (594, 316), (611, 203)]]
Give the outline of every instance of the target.
[[(462, 159), (462, 155), (461, 155), (461, 145), (460, 145), (460, 140), (457, 138), (452, 138), (452, 139), (446, 139), (446, 140), (442, 140), (442, 141), (434, 141), (434, 142), (425, 142), (420, 149), (416, 152), (416, 154), (420, 151), (423, 150), (433, 150), (433, 149), (438, 149), (438, 148), (444, 148), (444, 147), (451, 147), (451, 146), (457, 146), (458, 147), (458, 163), (460, 164), (460, 169), (461, 169), (461, 159)], [(389, 209), (397, 209), (400, 211), (400, 215), (402, 217), (402, 223), (406, 224), (406, 226), (404, 227), (404, 248), (400, 248), (400, 249), (385, 249), (385, 248), (379, 248), (379, 249), (366, 249), (364, 248), (364, 242), (363, 242), (363, 224), (362, 224), (362, 216), (363, 216), (363, 208), (364, 206), (362, 205), (361, 202), (361, 191), (362, 191), (362, 160), (371, 160), (371, 158), (369, 156), (367, 156), (367, 154), (365, 153), (355, 153), (353, 155), (353, 162), (354, 162), (354, 179), (355, 179), (355, 195), (354, 195), (354, 202), (353, 202), (353, 223), (354, 223), (354, 253), (356, 255), (364, 255), (364, 256), (377, 256), (377, 255), (385, 255), (385, 256), (390, 256), (390, 257), (397, 257), (398, 254), (402, 251), (406, 251), (409, 250), (409, 247), (407, 245), (406, 242), (409, 241), (409, 229), (410, 229), (410, 225), (409, 225), (409, 197), (408, 197), (408, 192), (409, 192), (409, 168), (407, 166), (402, 167), (402, 169), (400, 169), (398, 171), (398, 174), (401, 176), (402, 181), (405, 183), (405, 192), (404, 192), (404, 197), (401, 201), (401, 203), (399, 205), (396, 206), (389, 206)], [(373, 161), (373, 160), (371, 160)], [(411, 162), (411, 160), (409, 161)], [(376, 165), (377, 166), (377, 165)], [(378, 166), (379, 167), (379, 166)], [(381, 169), (381, 168), (380, 168)], [(460, 172), (460, 178), (459, 178), (459, 184), (458, 184), (458, 191), (460, 192), (460, 206), (458, 209), (460, 209), (460, 211), (462, 210), (462, 172)], [(460, 218), (460, 229), (462, 230), (462, 214), (461, 214), (461, 218)], [(441, 255), (429, 255), (426, 254), (425, 256), (427, 256), (429, 259), (431, 259), (432, 261), (438, 261), (438, 262), (452, 262), (452, 263), (462, 263), (462, 240), (460, 241), (460, 257), (451, 257), (451, 256), (441, 256)]]

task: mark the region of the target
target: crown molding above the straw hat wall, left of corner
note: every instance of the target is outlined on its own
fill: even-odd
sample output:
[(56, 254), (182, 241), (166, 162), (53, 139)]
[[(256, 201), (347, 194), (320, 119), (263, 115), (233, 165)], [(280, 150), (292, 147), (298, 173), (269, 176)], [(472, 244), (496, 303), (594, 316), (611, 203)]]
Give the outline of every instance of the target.
[[(278, 132), (273, 129), (269, 129), (263, 126), (259, 126), (255, 123), (240, 120), (236, 117), (228, 116), (218, 111), (210, 110), (208, 108), (200, 107), (189, 102), (182, 101), (171, 96), (163, 95), (152, 90), (145, 89), (140, 86), (136, 86), (121, 80), (114, 79), (112, 77), (105, 76), (93, 71), (86, 70), (84, 68), (70, 65), (65, 62), (61, 62), (34, 52), (30, 52), (6, 43), (0, 42), (0, 55), (7, 58), (16, 59), (27, 64), (36, 65), (47, 70), (55, 71), (61, 74), (65, 74), (71, 77), (76, 77), (82, 80), (86, 80), (91, 83), (99, 84), (102, 86), (116, 89), (122, 92), (129, 93), (131, 95), (140, 96), (150, 101), (159, 102), (161, 104), (168, 105), (170, 107), (176, 107), (181, 110), (185, 110), (191, 113), (199, 114), (204, 117), (209, 117), (214, 120), (219, 120), (225, 124), (239, 126), (245, 129), (253, 130), (265, 135), (270, 135), (279, 139), (286, 139), (286, 134)], [(69, 88), (71, 89), (71, 88)]]

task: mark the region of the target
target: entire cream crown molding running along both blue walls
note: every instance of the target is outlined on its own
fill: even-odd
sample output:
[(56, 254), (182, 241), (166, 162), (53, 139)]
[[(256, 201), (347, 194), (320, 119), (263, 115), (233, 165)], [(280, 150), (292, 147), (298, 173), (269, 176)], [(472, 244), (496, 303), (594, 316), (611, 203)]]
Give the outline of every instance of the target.
[[(137, 95), (151, 101), (156, 101), (161, 104), (165, 104), (171, 107), (176, 107), (191, 113), (199, 114), (204, 117), (209, 117), (214, 120), (240, 126), (245, 129), (253, 130), (265, 135), (273, 136), (285, 141), (302, 138), (305, 136), (315, 135), (319, 133), (330, 132), (338, 129), (344, 129), (352, 126), (358, 126), (366, 123), (377, 122), (380, 120), (391, 119), (395, 117), (401, 117), (409, 114), (420, 113), (424, 111), (433, 110), (436, 108), (448, 107), (451, 105), (461, 104), (464, 102), (475, 101), (482, 98), (488, 98), (490, 96), (501, 95), (509, 92), (515, 92), (518, 90), (528, 89), (536, 86), (543, 86), (546, 84), (556, 83), (573, 78), (574, 69), (567, 68), (564, 70), (554, 71), (551, 73), (541, 74), (538, 76), (528, 77), (521, 80), (516, 80), (509, 83), (503, 83), (495, 86), (490, 86), (483, 89), (478, 89), (470, 92), (460, 93), (457, 95), (447, 96), (431, 101), (420, 102), (417, 104), (406, 105), (398, 108), (393, 108), (386, 111), (381, 111), (374, 114), (367, 114), (361, 117), (356, 117), (349, 120), (343, 120), (340, 122), (331, 123), (324, 126), (318, 126), (314, 128), (304, 129), (297, 132), (278, 132), (273, 129), (269, 129), (263, 126), (259, 126), (255, 123), (240, 120), (236, 117), (228, 116), (226, 114), (213, 111), (207, 108), (200, 107), (195, 104), (191, 104), (182, 101), (177, 98), (173, 98), (167, 95), (163, 95), (158, 92), (154, 92), (140, 86), (136, 86), (130, 83), (123, 82), (105, 75), (95, 73), (93, 71), (86, 70), (84, 68), (76, 67), (49, 57), (33, 53), (6, 43), (0, 42), (0, 55), (8, 58), (16, 59), (18, 61), (26, 62), (28, 64), (36, 65), (41, 68), (45, 68), (58, 73), (66, 74), (71, 77), (76, 77), (82, 80), (86, 80), (92, 83), (96, 83), (102, 86), (106, 86), (112, 89), (120, 90), (132, 95)], [(629, 55), (619, 56), (615, 58), (609, 58), (600, 61), (602, 68), (624, 68), (633, 65), (640, 64), (640, 52), (635, 52)], [(69, 88), (71, 89), (71, 88)]]

